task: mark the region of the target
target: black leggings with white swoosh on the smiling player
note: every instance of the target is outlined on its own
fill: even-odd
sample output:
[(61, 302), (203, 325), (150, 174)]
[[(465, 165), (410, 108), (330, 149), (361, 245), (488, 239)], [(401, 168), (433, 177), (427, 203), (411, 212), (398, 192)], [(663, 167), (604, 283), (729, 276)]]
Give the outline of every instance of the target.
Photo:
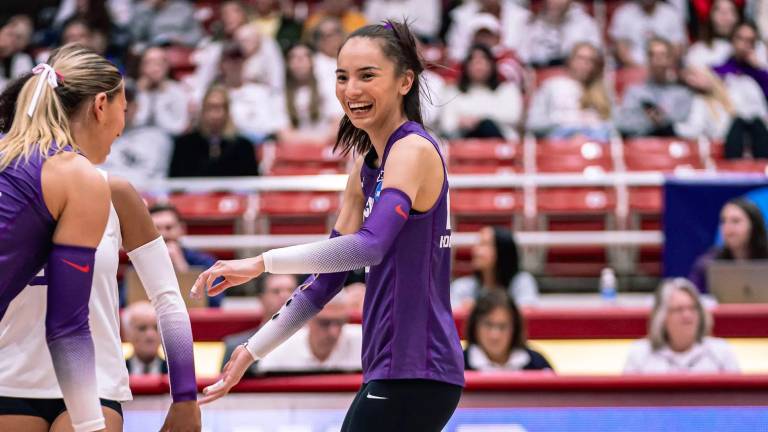
[(431, 380), (374, 380), (357, 392), (341, 432), (440, 432), (462, 388)]

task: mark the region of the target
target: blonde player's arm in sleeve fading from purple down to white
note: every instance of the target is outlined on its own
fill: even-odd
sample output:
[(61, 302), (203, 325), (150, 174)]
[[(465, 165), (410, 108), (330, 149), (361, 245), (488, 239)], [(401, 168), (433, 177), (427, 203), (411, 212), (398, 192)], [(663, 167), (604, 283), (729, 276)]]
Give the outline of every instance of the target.
[(46, 267), (46, 339), (76, 432), (103, 430), (88, 301), (96, 247), (109, 216), (107, 182), (84, 157), (62, 153), (43, 165), (43, 196), (57, 220)]

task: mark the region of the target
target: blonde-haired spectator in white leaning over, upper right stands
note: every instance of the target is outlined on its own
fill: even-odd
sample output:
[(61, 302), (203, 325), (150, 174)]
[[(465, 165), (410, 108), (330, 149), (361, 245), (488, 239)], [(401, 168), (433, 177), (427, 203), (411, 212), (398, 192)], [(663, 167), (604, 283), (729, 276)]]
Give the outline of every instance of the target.
[(685, 69), (681, 78), (694, 96), (688, 118), (674, 125), (675, 135), (693, 140), (702, 136), (725, 140), (735, 109), (723, 82), (709, 69), (699, 68)]

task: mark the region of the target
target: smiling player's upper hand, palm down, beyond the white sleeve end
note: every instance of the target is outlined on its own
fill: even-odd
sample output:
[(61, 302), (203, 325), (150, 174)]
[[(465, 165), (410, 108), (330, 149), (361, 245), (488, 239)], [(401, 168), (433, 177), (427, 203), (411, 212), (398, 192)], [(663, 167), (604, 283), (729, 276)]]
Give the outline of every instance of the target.
[[(264, 260), (261, 255), (231, 261), (216, 261), (208, 270), (200, 273), (190, 291), (190, 297), (200, 298), (203, 292), (215, 296), (227, 288), (244, 284), (264, 273)], [(213, 285), (213, 281), (223, 277), (224, 280)]]

